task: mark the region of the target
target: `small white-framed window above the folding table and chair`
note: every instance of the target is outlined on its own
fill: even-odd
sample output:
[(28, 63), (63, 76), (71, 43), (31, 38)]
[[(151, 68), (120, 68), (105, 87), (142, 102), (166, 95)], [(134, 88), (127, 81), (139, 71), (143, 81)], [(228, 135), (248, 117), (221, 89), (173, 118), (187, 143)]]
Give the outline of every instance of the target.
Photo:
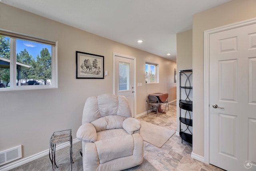
[(146, 62), (145, 75), (146, 83), (158, 83), (158, 64)]

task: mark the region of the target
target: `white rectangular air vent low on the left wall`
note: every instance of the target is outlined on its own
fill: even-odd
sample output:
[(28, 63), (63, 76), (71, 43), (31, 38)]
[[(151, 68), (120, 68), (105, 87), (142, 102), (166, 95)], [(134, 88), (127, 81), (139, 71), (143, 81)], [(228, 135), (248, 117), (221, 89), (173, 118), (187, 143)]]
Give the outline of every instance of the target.
[(21, 145), (0, 151), (0, 166), (22, 157)]

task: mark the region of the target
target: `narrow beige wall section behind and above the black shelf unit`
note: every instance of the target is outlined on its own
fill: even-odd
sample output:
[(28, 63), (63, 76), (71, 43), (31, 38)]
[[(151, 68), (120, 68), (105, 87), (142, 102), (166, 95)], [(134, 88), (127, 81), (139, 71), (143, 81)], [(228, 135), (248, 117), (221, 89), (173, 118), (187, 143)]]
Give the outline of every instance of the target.
[[(192, 30), (177, 35), (177, 85), (180, 85), (179, 70), (192, 69)], [(194, 75), (194, 74), (193, 74)], [(177, 88), (177, 102), (180, 100), (180, 89)], [(178, 106), (178, 105), (177, 105)], [(177, 131), (180, 130), (180, 108), (177, 107)]]

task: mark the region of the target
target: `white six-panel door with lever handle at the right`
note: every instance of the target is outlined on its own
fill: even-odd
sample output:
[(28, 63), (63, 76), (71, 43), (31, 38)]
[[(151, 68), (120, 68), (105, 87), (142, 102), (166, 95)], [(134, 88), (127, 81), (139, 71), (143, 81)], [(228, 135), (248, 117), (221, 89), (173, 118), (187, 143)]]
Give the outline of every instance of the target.
[(211, 34), (209, 49), (210, 163), (256, 170), (256, 24)]

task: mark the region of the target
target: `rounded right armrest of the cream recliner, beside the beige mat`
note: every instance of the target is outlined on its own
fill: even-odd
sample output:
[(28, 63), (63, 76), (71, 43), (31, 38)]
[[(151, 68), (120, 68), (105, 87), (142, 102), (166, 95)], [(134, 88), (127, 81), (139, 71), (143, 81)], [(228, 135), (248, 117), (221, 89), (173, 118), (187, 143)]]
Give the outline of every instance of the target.
[(128, 117), (123, 121), (122, 126), (124, 130), (126, 130), (126, 132), (128, 132), (129, 134), (133, 134), (134, 131), (140, 130), (141, 123), (133, 117)]

